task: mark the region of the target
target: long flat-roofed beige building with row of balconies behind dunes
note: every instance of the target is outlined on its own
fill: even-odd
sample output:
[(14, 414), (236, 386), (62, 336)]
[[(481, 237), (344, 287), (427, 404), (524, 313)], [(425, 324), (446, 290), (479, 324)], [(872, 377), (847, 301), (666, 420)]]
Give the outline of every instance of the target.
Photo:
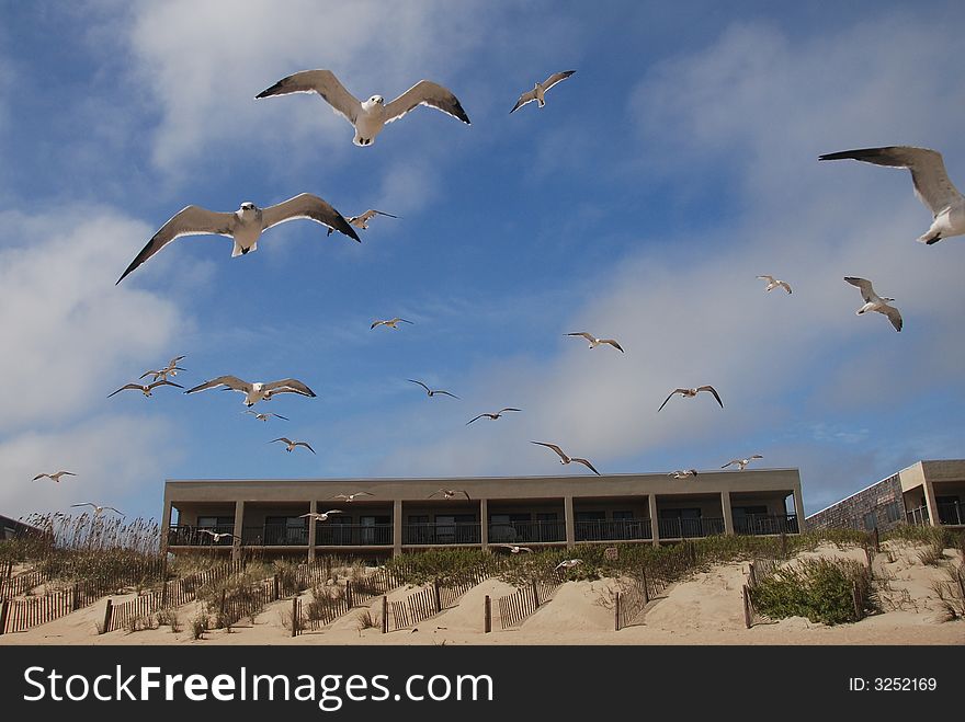
[[(447, 498), (443, 490), (456, 493)], [(352, 501), (337, 498), (355, 494)], [(792, 507), (788, 511), (788, 501)], [(438, 547), (660, 543), (797, 534), (797, 469), (463, 479), (183, 480), (164, 485), (172, 552), (370, 559)], [(305, 515), (334, 509), (323, 522)], [(177, 515), (177, 519), (174, 516)], [(222, 538), (214, 535), (223, 534)]]

